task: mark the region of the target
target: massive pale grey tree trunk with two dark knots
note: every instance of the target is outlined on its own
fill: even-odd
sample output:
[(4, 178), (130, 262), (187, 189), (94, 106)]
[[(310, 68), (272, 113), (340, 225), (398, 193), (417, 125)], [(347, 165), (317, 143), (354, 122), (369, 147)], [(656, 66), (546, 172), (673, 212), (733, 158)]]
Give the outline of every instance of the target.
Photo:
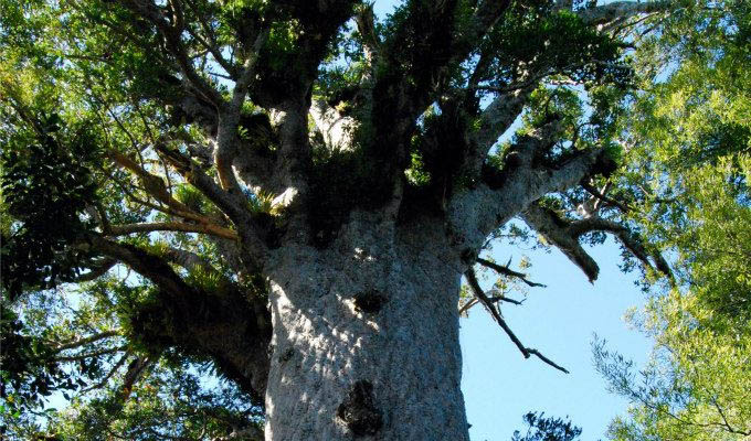
[(373, 217), (268, 263), (266, 440), (468, 440), (461, 259), (437, 220), (394, 230)]

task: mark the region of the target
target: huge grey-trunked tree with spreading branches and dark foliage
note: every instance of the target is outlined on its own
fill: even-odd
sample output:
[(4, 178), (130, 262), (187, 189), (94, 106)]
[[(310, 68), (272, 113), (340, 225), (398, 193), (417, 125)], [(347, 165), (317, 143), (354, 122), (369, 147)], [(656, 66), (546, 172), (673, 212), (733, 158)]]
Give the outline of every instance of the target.
[[(27, 342), (6, 347), (39, 347), (4, 374), (17, 415), (78, 381), (116, 381), (89, 405), (127, 415), (191, 362), (263, 407), (266, 440), (466, 440), (462, 275), (564, 370), (477, 282), (532, 283), (478, 259), (527, 233), (511, 219), (591, 281), (604, 234), (670, 273), (616, 171), (630, 51), (677, 2), (0, 4), (2, 283)], [(119, 434), (257, 435), (231, 423), (251, 406), (160, 399), (203, 429)]]

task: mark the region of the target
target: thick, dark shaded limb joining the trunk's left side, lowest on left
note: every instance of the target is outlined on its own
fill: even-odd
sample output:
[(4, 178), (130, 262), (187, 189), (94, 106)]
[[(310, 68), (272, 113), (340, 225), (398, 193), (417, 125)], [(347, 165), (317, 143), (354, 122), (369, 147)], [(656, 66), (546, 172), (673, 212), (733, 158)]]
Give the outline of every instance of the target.
[[(187, 284), (159, 257), (129, 244), (92, 236), (91, 247), (114, 257), (159, 288), (155, 304), (140, 306), (133, 320), (149, 342), (200, 352), (218, 368), (261, 401), (268, 374), (271, 319), (265, 300), (225, 283), (212, 292)], [(169, 254), (169, 252), (168, 252)], [(160, 323), (171, 323), (162, 327)], [(157, 324), (155, 327), (154, 324)]]

